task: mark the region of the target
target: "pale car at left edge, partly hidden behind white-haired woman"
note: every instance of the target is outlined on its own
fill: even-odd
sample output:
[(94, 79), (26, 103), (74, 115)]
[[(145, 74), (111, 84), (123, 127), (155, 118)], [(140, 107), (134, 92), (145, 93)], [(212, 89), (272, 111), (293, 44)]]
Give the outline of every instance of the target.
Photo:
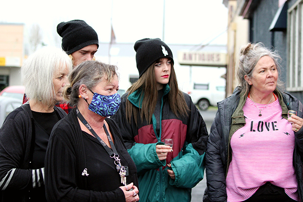
[(0, 96), (0, 127), (9, 113), (22, 105), (22, 99)]

